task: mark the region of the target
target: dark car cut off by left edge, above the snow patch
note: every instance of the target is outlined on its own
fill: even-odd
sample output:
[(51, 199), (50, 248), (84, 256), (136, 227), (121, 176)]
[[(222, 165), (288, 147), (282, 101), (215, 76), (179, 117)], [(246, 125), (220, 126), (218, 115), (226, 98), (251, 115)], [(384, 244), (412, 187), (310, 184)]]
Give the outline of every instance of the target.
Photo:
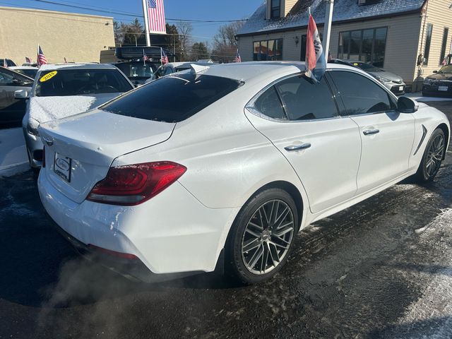
[(16, 90), (31, 90), (33, 79), (0, 66), (0, 128), (18, 124), (25, 114), (25, 100), (16, 99)]

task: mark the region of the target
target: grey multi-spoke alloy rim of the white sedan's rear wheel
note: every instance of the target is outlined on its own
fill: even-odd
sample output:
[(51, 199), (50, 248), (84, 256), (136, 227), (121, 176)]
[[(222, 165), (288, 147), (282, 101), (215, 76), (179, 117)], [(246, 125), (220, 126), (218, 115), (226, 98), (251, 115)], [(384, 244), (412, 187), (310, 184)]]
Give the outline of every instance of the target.
[(274, 270), (292, 244), (295, 220), (282, 200), (263, 203), (252, 215), (242, 237), (242, 259), (249, 272), (263, 275)]

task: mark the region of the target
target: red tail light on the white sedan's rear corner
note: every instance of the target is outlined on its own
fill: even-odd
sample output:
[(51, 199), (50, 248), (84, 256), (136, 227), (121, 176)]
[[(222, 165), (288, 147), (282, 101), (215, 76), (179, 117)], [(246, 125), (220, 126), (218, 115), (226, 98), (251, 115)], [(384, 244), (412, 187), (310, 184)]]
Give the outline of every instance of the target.
[(156, 196), (186, 172), (175, 162), (111, 167), (105, 179), (98, 182), (86, 198), (97, 203), (133, 206)]

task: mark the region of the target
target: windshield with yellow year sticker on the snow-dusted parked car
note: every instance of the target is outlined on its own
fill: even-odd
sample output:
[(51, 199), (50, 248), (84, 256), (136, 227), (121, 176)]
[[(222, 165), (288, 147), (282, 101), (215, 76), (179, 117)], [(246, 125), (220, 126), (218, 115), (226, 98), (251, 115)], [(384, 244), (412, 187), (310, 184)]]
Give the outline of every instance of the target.
[(133, 87), (117, 69), (58, 69), (40, 73), (35, 96), (123, 93)]

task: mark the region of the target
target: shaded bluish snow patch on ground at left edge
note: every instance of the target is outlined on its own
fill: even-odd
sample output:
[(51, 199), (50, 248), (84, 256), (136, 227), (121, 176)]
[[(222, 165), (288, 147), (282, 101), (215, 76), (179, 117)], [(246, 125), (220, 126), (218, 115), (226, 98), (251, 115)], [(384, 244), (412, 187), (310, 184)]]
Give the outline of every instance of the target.
[(27, 150), (22, 129), (0, 130), (0, 177), (28, 169)]

